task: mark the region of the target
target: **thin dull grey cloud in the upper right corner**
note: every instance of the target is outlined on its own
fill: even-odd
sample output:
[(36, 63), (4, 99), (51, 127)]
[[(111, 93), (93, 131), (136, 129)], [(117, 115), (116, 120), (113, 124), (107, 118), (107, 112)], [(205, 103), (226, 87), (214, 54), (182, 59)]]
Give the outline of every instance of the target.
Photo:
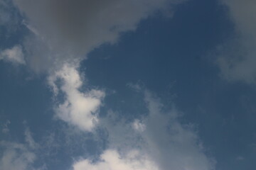
[(230, 81), (256, 81), (256, 2), (253, 0), (222, 0), (228, 6), (230, 20), (235, 24), (235, 38), (218, 50), (222, 76)]

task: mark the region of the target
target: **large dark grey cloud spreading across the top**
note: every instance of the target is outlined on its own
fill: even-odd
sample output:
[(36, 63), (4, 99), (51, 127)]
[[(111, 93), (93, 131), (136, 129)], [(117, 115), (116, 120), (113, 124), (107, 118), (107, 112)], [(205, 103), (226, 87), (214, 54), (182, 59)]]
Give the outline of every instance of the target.
[[(31, 30), (23, 42), (34, 69), (49, 69), (71, 58), (82, 60), (120, 33), (135, 30), (155, 11), (170, 10), (176, 0), (14, 0)], [(39, 47), (38, 47), (39, 46)], [(42, 53), (43, 52), (43, 53)]]

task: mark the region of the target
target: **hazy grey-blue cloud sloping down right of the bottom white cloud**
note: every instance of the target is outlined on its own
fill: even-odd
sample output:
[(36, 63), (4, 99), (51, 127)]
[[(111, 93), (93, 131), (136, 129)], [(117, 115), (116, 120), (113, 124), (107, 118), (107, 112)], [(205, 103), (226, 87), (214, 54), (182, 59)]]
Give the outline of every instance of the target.
[(149, 153), (161, 169), (214, 169), (214, 162), (204, 153), (203, 147), (191, 125), (178, 121), (178, 111), (163, 113), (163, 105), (158, 98), (145, 92), (149, 109), (146, 118), (146, 131), (143, 137), (151, 150)]

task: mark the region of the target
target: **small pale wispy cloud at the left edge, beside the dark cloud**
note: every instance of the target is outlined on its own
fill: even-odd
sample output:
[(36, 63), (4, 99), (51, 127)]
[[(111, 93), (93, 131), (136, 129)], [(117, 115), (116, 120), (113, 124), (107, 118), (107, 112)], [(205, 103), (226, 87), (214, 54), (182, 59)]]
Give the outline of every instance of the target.
[(26, 64), (21, 45), (15, 45), (10, 49), (2, 50), (0, 52), (0, 60), (16, 64)]

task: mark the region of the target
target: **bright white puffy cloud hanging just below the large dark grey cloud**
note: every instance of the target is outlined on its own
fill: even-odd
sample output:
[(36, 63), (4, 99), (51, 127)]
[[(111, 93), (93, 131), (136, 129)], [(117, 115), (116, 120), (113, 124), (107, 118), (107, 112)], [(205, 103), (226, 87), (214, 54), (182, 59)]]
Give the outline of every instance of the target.
[[(57, 81), (60, 80), (60, 87)], [(65, 96), (63, 103), (55, 108), (55, 113), (61, 120), (75, 125), (80, 130), (91, 131), (97, 123), (97, 111), (101, 105), (104, 91), (92, 89), (82, 93), (79, 89), (82, 80), (77, 67), (65, 64), (59, 71), (48, 78), (55, 95), (62, 91)]]

